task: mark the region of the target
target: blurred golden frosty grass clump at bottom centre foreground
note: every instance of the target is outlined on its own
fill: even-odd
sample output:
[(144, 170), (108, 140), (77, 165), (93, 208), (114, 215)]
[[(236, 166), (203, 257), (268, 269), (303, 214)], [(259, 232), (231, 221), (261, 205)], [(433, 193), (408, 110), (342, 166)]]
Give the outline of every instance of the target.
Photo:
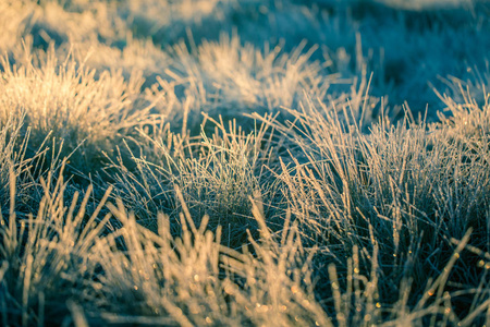
[[(98, 287), (103, 294), (98, 304), (108, 307), (101, 316), (106, 323), (328, 324), (311, 290), (302, 287), (301, 271), (308, 269), (308, 262), (302, 259), (294, 229), (284, 233), (281, 245), (270, 235), (260, 245), (254, 242), (258, 259), (220, 245), (221, 229), (216, 235), (206, 231), (207, 216), (196, 228), (191, 216), (182, 215), (183, 233), (174, 239), (169, 217), (159, 215), (158, 233), (154, 233), (139, 227), (121, 202), (110, 208), (122, 228), (96, 246), (108, 271)], [(255, 218), (267, 228), (259, 213)], [(267, 230), (262, 232), (268, 235)], [(124, 252), (111, 251), (118, 235), (125, 240)]]

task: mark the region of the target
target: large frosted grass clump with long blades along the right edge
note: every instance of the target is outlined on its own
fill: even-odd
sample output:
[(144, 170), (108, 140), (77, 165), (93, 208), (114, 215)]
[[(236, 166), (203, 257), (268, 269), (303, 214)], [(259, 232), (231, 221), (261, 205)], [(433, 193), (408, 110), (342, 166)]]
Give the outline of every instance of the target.
[[(343, 116), (328, 106), (310, 102), (293, 112), (294, 125), (279, 126), (302, 149), (302, 156), (283, 164), (280, 178), (305, 240), (321, 249), (320, 267), (333, 261), (338, 269), (348, 271), (352, 263), (345, 255), (362, 250), (360, 271), (376, 263), (382, 276), (378, 292), (384, 307), (383, 301), (400, 299), (407, 280), (407, 299), (419, 301), (426, 282), (448, 271), (453, 241), (464, 239), (465, 231), (473, 230), (466, 239), (488, 251), (489, 171), (482, 164), (488, 140), (480, 132), (486, 129), (488, 101), (482, 108), (471, 100), (453, 107), (473, 107), (455, 111), (449, 119), (454, 124), (416, 123), (406, 117), (396, 125), (380, 120), (368, 134), (350, 118), (355, 111), (350, 105)], [(471, 122), (468, 128), (465, 121)], [(371, 256), (373, 249), (377, 258)], [(471, 302), (466, 295), (480, 282), (487, 284), (481, 269), (471, 267), (476, 258), (468, 253), (464, 258), (445, 277), (448, 286), (439, 287), (461, 293), (449, 310), (458, 314), (465, 312), (466, 301)]]

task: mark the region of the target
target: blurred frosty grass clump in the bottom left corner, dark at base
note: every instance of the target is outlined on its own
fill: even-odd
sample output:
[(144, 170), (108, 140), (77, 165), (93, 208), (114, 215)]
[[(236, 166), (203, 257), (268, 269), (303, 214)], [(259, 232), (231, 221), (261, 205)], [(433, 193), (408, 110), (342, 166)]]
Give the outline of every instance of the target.
[(66, 183), (62, 178), (49, 173), (48, 180), (41, 178), (40, 183), (44, 196), (37, 215), (17, 215), (16, 177), (10, 168), (10, 213), (3, 213), (0, 220), (0, 319), (5, 326), (42, 326), (63, 320), (69, 313), (66, 300), (82, 292), (84, 282), (94, 276), (95, 265), (86, 251), (110, 217), (97, 220), (106, 201), (102, 198), (84, 225), (90, 191), (76, 211), (78, 193), (65, 207)]

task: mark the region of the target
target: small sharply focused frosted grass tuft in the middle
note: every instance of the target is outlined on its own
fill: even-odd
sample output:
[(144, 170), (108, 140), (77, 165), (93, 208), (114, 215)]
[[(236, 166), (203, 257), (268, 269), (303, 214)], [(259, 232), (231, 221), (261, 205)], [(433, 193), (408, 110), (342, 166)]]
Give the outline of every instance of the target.
[(132, 153), (128, 162), (120, 156), (108, 169), (118, 196), (146, 227), (155, 230), (154, 217), (164, 210), (179, 232), (179, 213), (185, 208), (193, 217), (207, 215), (211, 230), (222, 226), (225, 244), (240, 247), (247, 239), (246, 230), (257, 229), (249, 198), (264, 206), (264, 198), (278, 192), (266, 169), (275, 153), (273, 135), (267, 125), (246, 134), (236, 121), (226, 128), (223, 120), (207, 120), (216, 126), (211, 136), (204, 125), (195, 137), (174, 134), (169, 128), (157, 132), (158, 136), (142, 131), (146, 141), (137, 143), (138, 153)]

